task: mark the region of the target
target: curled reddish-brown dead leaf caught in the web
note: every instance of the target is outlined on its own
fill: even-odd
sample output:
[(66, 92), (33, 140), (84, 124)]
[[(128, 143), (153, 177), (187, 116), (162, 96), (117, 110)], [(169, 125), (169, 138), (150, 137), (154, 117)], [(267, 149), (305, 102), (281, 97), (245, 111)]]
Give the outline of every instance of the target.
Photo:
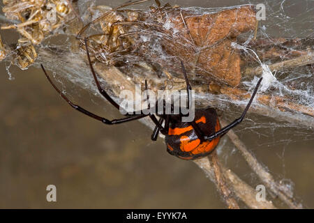
[[(218, 79), (237, 86), (241, 80), (241, 59), (231, 43), (241, 33), (253, 31), (256, 25), (253, 6), (241, 6), (218, 13), (193, 15), (174, 10), (168, 15), (172, 31), (181, 38), (163, 41), (167, 54), (179, 56), (187, 66), (205, 78)], [(169, 21), (164, 21), (169, 22)], [(170, 31), (165, 31), (170, 36)], [(171, 42), (171, 43), (170, 43)]]

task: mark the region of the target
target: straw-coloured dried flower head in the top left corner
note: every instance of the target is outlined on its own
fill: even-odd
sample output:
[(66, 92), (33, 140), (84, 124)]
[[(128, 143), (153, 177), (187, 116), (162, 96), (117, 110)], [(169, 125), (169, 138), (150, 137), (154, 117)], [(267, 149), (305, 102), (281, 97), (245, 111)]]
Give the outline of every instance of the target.
[(66, 0), (4, 0), (2, 10), (8, 20), (20, 23), (2, 25), (1, 29), (15, 29), (22, 37), (18, 40), (17, 65), (26, 69), (37, 57), (33, 45), (40, 44), (47, 36), (73, 18)]

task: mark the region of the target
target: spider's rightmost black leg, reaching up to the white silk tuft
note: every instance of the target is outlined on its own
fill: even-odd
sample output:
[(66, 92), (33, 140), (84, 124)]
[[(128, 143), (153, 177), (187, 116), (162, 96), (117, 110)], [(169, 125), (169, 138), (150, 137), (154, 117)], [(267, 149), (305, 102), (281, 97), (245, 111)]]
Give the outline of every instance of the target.
[(251, 96), (250, 101), (248, 102), (248, 105), (246, 105), (246, 108), (244, 109), (244, 112), (242, 113), (242, 115), (237, 118), (236, 120), (234, 120), (232, 123), (230, 123), (229, 125), (225, 126), (224, 128), (222, 128), (221, 130), (219, 130), (218, 132), (214, 132), (214, 134), (211, 134), (209, 136), (205, 136), (204, 138), (206, 140), (213, 140), (216, 139), (219, 136), (222, 136), (223, 134), (227, 133), (227, 131), (229, 131), (230, 129), (234, 128), (234, 126), (238, 125), (239, 123), (241, 123), (241, 121), (243, 121), (244, 116), (246, 115), (246, 112), (248, 112), (248, 108), (251, 106), (251, 103), (253, 102), (253, 99), (255, 97), (255, 94), (257, 92), (258, 87), (260, 86), (260, 82), (262, 82), (262, 77), (260, 78), (260, 80), (257, 82), (255, 89), (253, 91), (253, 94)]

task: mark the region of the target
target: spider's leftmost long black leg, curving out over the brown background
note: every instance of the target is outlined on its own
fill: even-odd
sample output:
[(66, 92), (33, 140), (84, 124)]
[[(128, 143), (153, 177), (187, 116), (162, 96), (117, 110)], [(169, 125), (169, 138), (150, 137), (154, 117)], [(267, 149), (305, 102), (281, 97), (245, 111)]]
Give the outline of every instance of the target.
[(40, 64), (41, 68), (43, 69), (43, 72), (45, 73), (48, 81), (50, 82), (50, 84), (54, 87), (54, 89), (61, 95), (61, 97), (66, 100), (66, 102), (68, 102), (68, 104), (70, 105), (70, 107), (73, 107), (73, 109), (79, 111), (79, 112), (82, 112), (83, 114), (91, 117), (91, 118), (94, 118), (98, 121), (101, 121), (102, 123), (104, 124), (107, 124), (107, 125), (114, 125), (114, 124), (119, 124), (119, 123), (126, 123), (128, 121), (133, 121), (133, 120), (137, 120), (137, 119), (140, 119), (140, 118), (144, 118), (145, 116), (148, 116), (148, 115), (145, 115), (145, 114), (140, 114), (140, 115), (135, 115), (135, 116), (128, 116), (126, 118), (120, 118), (120, 119), (113, 119), (113, 120), (108, 120), (107, 118), (103, 118), (101, 116), (98, 116), (94, 113), (91, 113), (89, 111), (87, 111), (86, 109), (78, 106), (78, 105), (75, 105), (73, 104), (73, 102), (71, 102), (67, 97), (66, 95), (64, 95), (58, 88), (57, 86), (52, 82), (52, 80), (50, 79), (50, 77), (47, 75), (47, 72), (45, 70), (45, 68), (43, 67), (43, 64)]

